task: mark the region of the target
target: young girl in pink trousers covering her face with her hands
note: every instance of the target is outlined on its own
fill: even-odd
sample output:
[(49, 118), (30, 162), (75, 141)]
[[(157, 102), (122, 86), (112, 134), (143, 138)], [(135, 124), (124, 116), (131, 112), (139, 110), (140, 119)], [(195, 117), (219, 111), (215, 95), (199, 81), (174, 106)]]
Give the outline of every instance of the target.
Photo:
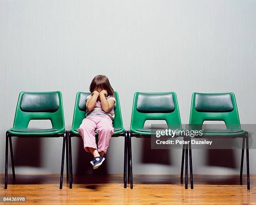
[[(90, 162), (97, 169), (105, 160), (111, 135), (114, 133), (112, 120), (115, 117), (114, 90), (106, 76), (97, 75), (90, 84), (91, 94), (87, 96), (86, 115), (78, 132), (84, 141), (86, 152), (92, 153), (94, 159)], [(99, 137), (98, 148), (95, 141), (95, 129)]]

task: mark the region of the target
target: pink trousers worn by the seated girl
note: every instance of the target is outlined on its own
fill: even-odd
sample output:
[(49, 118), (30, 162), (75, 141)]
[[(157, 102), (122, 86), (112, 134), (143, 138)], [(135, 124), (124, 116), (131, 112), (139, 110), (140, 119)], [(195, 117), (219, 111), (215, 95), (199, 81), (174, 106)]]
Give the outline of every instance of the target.
[(78, 132), (82, 136), (86, 152), (90, 152), (88, 147), (97, 149), (95, 129), (99, 137), (98, 152), (106, 153), (111, 135), (114, 133), (112, 120), (106, 115), (92, 115), (83, 119)]

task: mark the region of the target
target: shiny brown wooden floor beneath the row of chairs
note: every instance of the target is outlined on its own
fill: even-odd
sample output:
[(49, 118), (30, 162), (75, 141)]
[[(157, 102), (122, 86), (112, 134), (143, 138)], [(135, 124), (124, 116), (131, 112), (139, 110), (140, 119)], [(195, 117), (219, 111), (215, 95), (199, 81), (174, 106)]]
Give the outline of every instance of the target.
[(134, 175), (133, 190), (123, 188), (122, 175), (74, 176), (73, 189), (65, 179), (62, 190), (59, 175), (16, 175), (15, 183), (11, 178), (5, 190), (0, 175), (0, 196), (26, 196), (26, 204), (256, 204), (256, 175), (251, 175), (249, 191), (246, 176), (240, 185), (238, 175), (195, 175), (194, 190), (185, 190), (179, 175)]

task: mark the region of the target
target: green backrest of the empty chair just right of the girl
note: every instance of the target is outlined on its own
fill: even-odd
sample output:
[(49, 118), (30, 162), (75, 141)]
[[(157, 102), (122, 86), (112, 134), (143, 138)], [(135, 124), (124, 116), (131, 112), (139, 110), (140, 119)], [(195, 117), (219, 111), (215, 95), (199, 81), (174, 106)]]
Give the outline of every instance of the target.
[(181, 128), (176, 93), (141, 93), (133, 97), (131, 130), (142, 129), (146, 120), (165, 120), (168, 128)]

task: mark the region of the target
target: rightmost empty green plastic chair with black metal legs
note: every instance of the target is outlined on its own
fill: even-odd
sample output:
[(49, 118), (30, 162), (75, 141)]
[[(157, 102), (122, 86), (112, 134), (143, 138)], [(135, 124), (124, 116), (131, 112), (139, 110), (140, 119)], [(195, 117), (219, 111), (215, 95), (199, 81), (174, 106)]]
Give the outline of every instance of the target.
[(243, 157), (246, 139), (247, 189), (250, 189), (248, 132), (241, 129), (233, 93), (193, 93), (189, 118), (190, 130), (201, 130), (204, 121), (224, 121), (226, 130), (204, 129), (197, 138), (243, 138), (240, 181), (243, 176)]

